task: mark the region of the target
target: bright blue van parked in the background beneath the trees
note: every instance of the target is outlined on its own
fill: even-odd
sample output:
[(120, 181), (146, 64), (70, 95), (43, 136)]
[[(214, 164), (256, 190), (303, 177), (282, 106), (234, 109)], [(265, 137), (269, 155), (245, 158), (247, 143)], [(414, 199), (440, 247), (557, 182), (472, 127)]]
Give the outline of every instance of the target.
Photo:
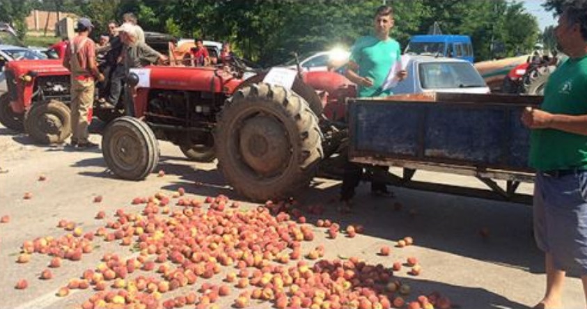
[(469, 35), (413, 35), (404, 53), (459, 58), (470, 63), (475, 60)]

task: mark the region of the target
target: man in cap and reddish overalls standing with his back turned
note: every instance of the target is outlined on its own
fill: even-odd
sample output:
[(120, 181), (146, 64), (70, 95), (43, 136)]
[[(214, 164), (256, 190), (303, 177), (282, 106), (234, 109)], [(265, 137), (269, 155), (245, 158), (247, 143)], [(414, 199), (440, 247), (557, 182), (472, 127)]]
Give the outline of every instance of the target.
[(88, 35), (93, 29), (90, 19), (77, 21), (77, 35), (65, 49), (63, 66), (71, 72), (71, 145), (79, 149), (93, 148), (97, 144), (88, 140), (88, 111), (94, 101), (95, 80), (104, 75), (96, 65), (95, 43)]

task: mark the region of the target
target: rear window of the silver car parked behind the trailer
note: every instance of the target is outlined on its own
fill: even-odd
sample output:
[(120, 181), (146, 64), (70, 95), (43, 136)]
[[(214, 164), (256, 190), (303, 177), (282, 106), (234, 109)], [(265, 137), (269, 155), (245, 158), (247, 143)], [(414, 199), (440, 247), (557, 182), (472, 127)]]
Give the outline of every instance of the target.
[(435, 62), (418, 65), (423, 89), (486, 87), (473, 65), (465, 62)]

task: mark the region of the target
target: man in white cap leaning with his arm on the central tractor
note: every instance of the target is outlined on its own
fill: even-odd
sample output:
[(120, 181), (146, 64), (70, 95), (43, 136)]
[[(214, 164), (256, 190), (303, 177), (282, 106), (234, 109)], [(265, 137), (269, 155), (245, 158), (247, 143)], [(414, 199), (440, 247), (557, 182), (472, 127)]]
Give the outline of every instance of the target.
[[(128, 76), (130, 69), (143, 68), (145, 65), (155, 64), (157, 62), (166, 62), (167, 57), (152, 49), (145, 42), (139, 40), (139, 31), (136, 26), (126, 23), (118, 28), (120, 40), (122, 40), (123, 47), (122, 58), (125, 68), (125, 76)], [(134, 115), (134, 106), (132, 103), (132, 95), (130, 88), (125, 91), (126, 97), (126, 112), (127, 115)]]

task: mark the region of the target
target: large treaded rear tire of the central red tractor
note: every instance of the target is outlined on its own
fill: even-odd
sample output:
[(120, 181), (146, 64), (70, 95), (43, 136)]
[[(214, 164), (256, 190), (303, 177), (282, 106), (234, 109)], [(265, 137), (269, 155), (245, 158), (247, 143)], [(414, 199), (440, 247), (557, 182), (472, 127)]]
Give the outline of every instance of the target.
[(227, 100), (214, 134), (219, 170), (251, 200), (281, 200), (308, 186), (322, 154), (318, 118), (299, 95), (253, 84)]

